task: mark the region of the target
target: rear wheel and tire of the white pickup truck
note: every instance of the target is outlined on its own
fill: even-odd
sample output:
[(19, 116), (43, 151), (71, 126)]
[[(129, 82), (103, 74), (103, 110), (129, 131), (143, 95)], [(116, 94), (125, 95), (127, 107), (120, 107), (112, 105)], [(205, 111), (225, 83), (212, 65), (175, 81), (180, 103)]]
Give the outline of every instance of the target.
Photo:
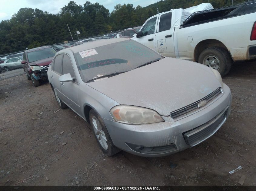
[(218, 72), (221, 76), (228, 74), (232, 66), (232, 59), (228, 51), (219, 47), (210, 47), (201, 52), (198, 63), (207, 65)]

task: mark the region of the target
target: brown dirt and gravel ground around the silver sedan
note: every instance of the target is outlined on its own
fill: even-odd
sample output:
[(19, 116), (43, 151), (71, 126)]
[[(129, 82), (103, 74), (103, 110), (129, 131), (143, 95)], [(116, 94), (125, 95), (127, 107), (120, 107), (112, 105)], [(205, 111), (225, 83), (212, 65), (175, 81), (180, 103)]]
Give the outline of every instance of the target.
[(233, 64), (223, 81), (233, 96), (231, 116), (215, 135), (170, 156), (143, 158), (124, 151), (106, 157), (88, 124), (59, 110), (49, 83), (35, 88), (25, 74), (3, 79), (0, 185), (240, 185), (245, 175), (244, 185), (255, 186), (256, 62)]

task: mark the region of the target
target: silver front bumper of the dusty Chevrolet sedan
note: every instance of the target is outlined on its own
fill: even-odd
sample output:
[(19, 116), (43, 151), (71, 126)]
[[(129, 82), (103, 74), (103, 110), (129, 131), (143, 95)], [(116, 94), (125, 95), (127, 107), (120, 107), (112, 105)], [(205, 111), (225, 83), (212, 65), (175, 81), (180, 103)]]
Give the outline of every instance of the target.
[(226, 121), (232, 98), (226, 84), (222, 90), (217, 100), (178, 121), (170, 116), (163, 116), (165, 122), (146, 125), (127, 125), (104, 118), (103, 121), (114, 145), (121, 150), (144, 157), (173, 154), (209, 138)]

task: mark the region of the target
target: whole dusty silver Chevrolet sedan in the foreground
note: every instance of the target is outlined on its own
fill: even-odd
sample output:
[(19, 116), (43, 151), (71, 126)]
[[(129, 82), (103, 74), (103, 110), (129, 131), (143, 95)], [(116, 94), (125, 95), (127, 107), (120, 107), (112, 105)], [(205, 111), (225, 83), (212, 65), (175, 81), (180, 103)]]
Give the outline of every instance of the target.
[(209, 138), (230, 114), (219, 72), (125, 38), (59, 51), (48, 79), (59, 106), (91, 125), (108, 156), (173, 154)]

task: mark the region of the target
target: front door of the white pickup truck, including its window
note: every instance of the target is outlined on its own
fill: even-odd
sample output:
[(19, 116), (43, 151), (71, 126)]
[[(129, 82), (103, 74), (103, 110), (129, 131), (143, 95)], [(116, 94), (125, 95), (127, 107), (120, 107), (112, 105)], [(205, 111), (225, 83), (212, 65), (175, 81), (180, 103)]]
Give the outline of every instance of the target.
[[(149, 48), (155, 49), (155, 34), (157, 29), (158, 15), (149, 19), (142, 27), (141, 30), (143, 34), (146, 34), (143, 37), (136, 38), (136, 41), (148, 46)], [(157, 50), (156, 50), (157, 51)]]

